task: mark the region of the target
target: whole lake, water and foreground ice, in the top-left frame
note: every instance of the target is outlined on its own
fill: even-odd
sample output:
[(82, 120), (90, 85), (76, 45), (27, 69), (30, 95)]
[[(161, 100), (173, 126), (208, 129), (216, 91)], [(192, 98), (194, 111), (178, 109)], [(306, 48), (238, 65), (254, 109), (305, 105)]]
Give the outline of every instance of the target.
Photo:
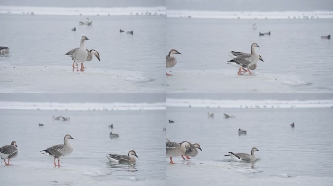
[[(86, 17), (93, 21), (92, 26), (79, 25), (79, 21), (85, 21)], [(5, 90), (1, 88), (0, 92), (71, 93), (70, 89), (61, 88), (66, 84), (64, 81), (67, 82), (70, 78), (73, 92), (90, 93), (90, 90), (80, 89), (83, 81), (72, 77), (77, 75), (76, 77), (90, 78), (84, 80), (85, 85), (93, 89), (104, 88), (107, 90), (105, 93), (164, 93), (165, 20), (165, 15), (0, 14), (0, 24), (4, 26), (0, 46), (10, 47), (9, 54), (0, 55), (0, 77), (3, 79), (0, 83), (7, 87)], [(76, 31), (71, 31), (74, 27)], [(134, 34), (119, 33), (119, 29), (133, 30)], [(85, 47), (97, 50), (101, 62), (93, 58), (85, 63), (87, 69), (84, 73), (77, 73), (76, 70), (72, 72), (72, 60), (64, 54), (79, 47), (82, 35), (90, 39), (85, 42)], [(19, 79), (15, 72), (8, 71), (13, 68), (20, 74)], [(49, 68), (49, 71), (40, 74), (45, 68)], [(120, 83), (114, 79), (118, 77), (122, 78)], [(42, 86), (36, 87), (34, 83)], [(97, 83), (100, 85), (96, 86)], [(135, 91), (142, 86), (143, 90)], [(49, 90), (52, 87), (57, 88)]]

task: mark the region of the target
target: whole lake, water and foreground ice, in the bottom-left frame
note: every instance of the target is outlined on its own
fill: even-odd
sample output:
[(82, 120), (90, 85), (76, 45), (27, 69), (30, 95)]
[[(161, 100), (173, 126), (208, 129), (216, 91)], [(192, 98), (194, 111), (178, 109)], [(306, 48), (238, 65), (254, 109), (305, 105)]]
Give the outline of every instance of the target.
[[(69, 122), (52, 116), (70, 117)], [(19, 116), (19, 117), (18, 117)], [(165, 110), (140, 111), (43, 111), (0, 110), (1, 146), (15, 140), (19, 155), (12, 166), (0, 163), (4, 185), (165, 185)], [(44, 124), (39, 127), (38, 123)], [(113, 124), (114, 128), (108, 127)], [(110, 132), (119, 138), (110, 138)], [(63, 143), (65, 134), (74, 140), (72, 154), (53, 167), (53, 158), (39, 151)], [(154, 140), (152, 140), (154, 139)], [(135, 165), (112, 165), (107, 154), (135, 150)], [(19, 176), (18, 176), (19, 175)]]

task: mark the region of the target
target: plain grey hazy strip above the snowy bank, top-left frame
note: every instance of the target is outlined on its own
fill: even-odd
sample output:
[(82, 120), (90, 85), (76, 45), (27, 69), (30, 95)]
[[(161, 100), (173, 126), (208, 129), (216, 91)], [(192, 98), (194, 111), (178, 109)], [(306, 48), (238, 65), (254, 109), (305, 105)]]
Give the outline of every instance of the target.
[(166, 0), (0, 0), (5, 6), (129, 7), (166, 6)]

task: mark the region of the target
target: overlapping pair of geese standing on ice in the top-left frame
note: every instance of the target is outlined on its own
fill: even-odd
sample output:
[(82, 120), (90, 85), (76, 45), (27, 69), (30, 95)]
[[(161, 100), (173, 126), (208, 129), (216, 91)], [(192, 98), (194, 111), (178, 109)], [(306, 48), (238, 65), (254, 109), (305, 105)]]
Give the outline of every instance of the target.
[(70, 50), (69, 52), (67, 52), (65, 55), (66, 56), (71, 56), (72, 60), (73, 60), (73, 69), (74, 67), (74, 63), (76, 63), (76, 68), (77, 71), (79, 71), (78, 69), (78, 63), (81, 64), (81, 69), (80, 71), (83, 72), (84, 70), (84, 62), (89, 62), (92, 60), (93, 55), (96, 56), (96, 58), (98, 59), (98, 61), (101, 61), (99, 59), (99, 52), (97, 52), (96, 50), (92, 49), (92, 50), (88, 50), (87, 48), (84, 47), (84, 42), (86, 40), (89, 40), (87, 36), (82, 36), (81, 40), (80, 40), (80, 47), (78, 48), (74, 48), (72, 50)]

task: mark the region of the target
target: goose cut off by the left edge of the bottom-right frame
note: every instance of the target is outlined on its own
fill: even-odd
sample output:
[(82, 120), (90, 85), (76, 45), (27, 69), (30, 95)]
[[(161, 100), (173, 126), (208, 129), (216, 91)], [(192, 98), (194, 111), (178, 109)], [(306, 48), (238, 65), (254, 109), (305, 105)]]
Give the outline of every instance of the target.
[(183, 141), (181, 143), (170, 142), (166, 140), (166, 156), (170, 157), (170, 164), (175, 164), (172, 161), (172, 157), (184, 155), (186, 150), (190, 148), (190, 143)]

